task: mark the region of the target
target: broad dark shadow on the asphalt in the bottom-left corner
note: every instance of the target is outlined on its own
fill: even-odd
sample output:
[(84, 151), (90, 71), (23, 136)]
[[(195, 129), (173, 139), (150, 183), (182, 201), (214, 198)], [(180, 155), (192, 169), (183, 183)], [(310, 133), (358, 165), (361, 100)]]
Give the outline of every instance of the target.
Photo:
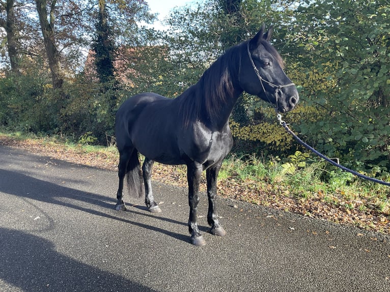
[(155, 291), (61, 254), (29, 233), (0, 227), (0, 243), (0, 279), (23, 291)]

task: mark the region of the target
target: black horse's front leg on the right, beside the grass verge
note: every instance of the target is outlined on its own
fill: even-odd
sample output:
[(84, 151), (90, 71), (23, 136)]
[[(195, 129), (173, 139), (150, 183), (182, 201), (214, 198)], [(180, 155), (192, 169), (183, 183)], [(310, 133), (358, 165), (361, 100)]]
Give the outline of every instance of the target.
[(207, 196), (209, 199), (209, 210), (207, 213), (207, 222), (211, 228), (209, 230), (213, 235), (224, 236), (226, 231), (224, 227), (219, 224), (217, 215), (217, 178), (218, 172), (221, 168), (222, 162), (208, 168), (206, 170), (206, 181), (207, 181)]

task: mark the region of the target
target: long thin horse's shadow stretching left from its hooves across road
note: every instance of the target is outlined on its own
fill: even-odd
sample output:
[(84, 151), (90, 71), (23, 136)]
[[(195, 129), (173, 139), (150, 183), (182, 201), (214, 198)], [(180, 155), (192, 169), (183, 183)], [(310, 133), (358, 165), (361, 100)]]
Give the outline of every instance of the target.
[[(161, 232), (164, 235), (171, 236), (177, 240), (181, 240), (187, 243), (190, 242), (189, 235), (187, 236), (181, 233), (165, 230), (156, 226), (151, 226), (141, 222), (131, 221), (126, 218), (123, 218), (125, 215), (123, 213), (118, 214), (119, 216), (115, 216), (109, 214), (113, 212), (104, 213), (102, 211), (83, 206), (85, 205), (85, 203), (89, 203), (91, 205), (113, 210), (115, 208), (115, 202), (116, 202), (114, 198), (107, 198), (99, 194), (94, 194), (90, 192), (84, 192), (84, 191), (64, 187), (58, 184), (53, 184), (47, 181), (26, 176), (25, 174), (21, 174), (15, 171), (0, 169), (0, 192), (15, 195), (18, 197), (39, 200), (42, 202), (47, 202), (54, 205), (64, 206), (75, 210), (87, 212), (92, 215), (106, 217), (117, 221), (122, 221), (152, 231)], [(66, 200), (64, 200), (64, 198), (66, 198)], [(135, 211), (134, 209), (140, 211)], [(131, 212), (133, 214), (141, 215), (145, 217), (151, 217), (153, 219), (162, 220), (173, 224), (187, 226), (183, 222), (148, 213), (147, 208), (146, 207), (143, 208), (142, 206), (134, 205), (128, 208), (126, 212)], [(201, 227), (200, 229), (202, 229), (202, 231), (208, 230), (207, 227)], [(183, 230), (186, 229), (184, 228)]]

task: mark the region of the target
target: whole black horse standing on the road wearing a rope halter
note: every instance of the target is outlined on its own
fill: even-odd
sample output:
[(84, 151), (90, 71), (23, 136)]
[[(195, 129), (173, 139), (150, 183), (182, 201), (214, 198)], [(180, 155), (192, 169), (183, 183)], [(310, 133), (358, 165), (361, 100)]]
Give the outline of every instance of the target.
[[(224, 236), (216, 212), (216, 181), (222, 160), (233, 144), (229, 116), (243, 91), (273, 103), (278, 111), (292, 110), (299, 97), (283, 71), (283, 61), (269, 44), (272, 28), (234, 46), (207, 69), (198, 83), (175, 99), (143, 93), (127, 99), (115, 123), (119, 150), (119, 188), (116, 210), (126, 210), (123, 181), (127, 174), (130, 194), (143, 195), (150, 212), (161, 212), (152, 194), (154, 161), (187, 165), (191, 243), (206, 244), (197, 225), (199, 184), (206, 170), (210, 233)], [(138, 152), (145, 156), (140, 169)]]

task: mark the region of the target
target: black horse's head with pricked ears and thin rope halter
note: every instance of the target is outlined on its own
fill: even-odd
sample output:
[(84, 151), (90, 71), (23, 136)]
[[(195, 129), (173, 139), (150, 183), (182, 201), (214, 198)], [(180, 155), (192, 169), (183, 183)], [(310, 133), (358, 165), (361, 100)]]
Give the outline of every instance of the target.
[(264, 33), (265, 26), (250, 41), (244, 43), (241, 56), (239, 82), (249, 94), (273, 103), (280, 112), (287, 112), (297, 105), (298, 91), (283, 71), (283, 61), (269, 40), (272, 27)]

